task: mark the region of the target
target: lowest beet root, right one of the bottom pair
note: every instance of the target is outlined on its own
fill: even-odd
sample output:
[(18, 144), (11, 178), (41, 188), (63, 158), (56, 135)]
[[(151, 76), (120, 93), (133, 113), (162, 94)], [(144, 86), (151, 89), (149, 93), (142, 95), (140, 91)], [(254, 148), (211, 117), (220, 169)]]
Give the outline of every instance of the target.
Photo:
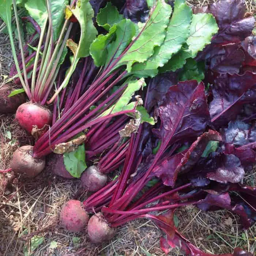
[(103, 241), (111, 240), (116, 230), (110, 227), (101, 212), (94, 214), (87, 226), (88, 236), (93, 243), (100, 243)]

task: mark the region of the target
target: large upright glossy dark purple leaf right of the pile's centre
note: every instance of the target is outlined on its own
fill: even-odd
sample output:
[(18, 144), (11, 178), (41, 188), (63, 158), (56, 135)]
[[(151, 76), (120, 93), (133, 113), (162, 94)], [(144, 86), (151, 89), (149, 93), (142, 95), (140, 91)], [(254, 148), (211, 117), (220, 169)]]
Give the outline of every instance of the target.
[(154, 132), (161, 138), (162, 145), (201, 135), (210, 121), (204, 84), (191, 80), (170, 87), (165, 103), (156, 114), (161, 119), (161, 127)]

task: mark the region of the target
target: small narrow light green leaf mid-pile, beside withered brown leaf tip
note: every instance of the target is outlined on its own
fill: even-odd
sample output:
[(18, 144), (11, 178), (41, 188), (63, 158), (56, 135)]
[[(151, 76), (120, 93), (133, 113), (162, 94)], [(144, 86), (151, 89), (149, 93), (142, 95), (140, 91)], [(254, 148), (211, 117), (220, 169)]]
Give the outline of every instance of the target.
[[(139, 80), (132, 80), (129, 81), (127, 84), (127, 88), (125, 89), (124, 93), (118, 99), (118, 101), (103, 112), (100, 117), (107, 116), (108, 114), (114, 114), (124, 110), (133, 110), (136, 107), (136, 102), (130, 102), (132, 96), (135, 94), (136, 91), (140, 90), (146, 86), (146, 83), (143, 78)], [(130, 103), (129, 103), (130, 102)]]

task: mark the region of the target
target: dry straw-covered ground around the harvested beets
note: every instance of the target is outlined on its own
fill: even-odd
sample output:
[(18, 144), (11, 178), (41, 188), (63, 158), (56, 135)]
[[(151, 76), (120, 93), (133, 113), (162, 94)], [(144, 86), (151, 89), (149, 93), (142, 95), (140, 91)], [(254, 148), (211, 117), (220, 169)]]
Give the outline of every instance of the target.
[[(194, 0), (189, 4), (207, 2)], [(253, 1), (246, 4), (252, 12)], [(10, 71), (10, 48), (8, 38), (1, 34), (1, 75)], [(10, 167), (12, 153), (24, 144), (33, 144), (33, 139), (19, 128), (14, 116), (0, 116), (0, 169)], [(244, 183), (256, 185), (255, 169), (246, 174)], [(159, 247), (161, 231), (144, 219), (121, 227), (111, 242), (99, 246), (90, 244), (83, 233), (59, 228), (63, 203), (74, 198), (83, 200), (86, 196), (79, 181), (55, 177), (50, 164), (33, 180), (17, 179), (12, 173), (0, 174), (0, 255), (29, 255), (34, 248), (37, 249), (33, 255), (163, 255)], [(176, 216), (178, 229), (205, 252), (230, 253), (237, 246), (256, 251), (256, 226), (240, 231), (239, 218), (229, 211), (202, 212), (185, 207), (177, 210)], [(177, 251), (170, 253), (177, 254)]]

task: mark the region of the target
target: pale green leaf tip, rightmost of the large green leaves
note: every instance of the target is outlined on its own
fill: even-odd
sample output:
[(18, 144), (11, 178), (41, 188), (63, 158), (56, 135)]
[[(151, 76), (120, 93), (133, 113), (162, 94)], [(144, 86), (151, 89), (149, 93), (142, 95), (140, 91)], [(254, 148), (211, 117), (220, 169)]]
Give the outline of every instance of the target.
[(212, 35), (218, 32), (218, 26), (211, 14), (193, 14), (190, 34), (187, 39), (191, 57), (195, 57), (197, 52), (203, 50), (210, 44)]

